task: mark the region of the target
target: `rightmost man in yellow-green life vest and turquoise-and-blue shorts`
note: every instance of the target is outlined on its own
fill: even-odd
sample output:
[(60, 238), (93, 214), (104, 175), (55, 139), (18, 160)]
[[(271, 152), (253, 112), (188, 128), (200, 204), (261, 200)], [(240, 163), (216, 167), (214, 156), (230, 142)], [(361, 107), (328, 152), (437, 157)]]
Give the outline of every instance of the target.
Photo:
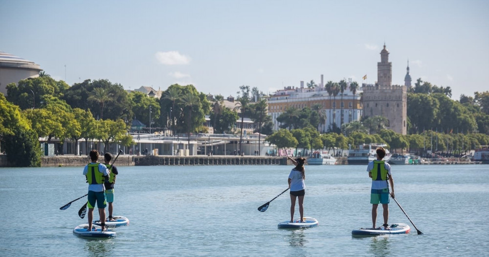
[(391, 166), (382, 161), (385, 156), (385, 149), (378, 147), (376, 149), (377, 160), (369, 162), (367, 166), (368, 176), (372, 178), (372, 189), (370, 192), (370, 203), (372, 204), (372, 228), (375, 227), (377, 220), (377, 207), (378, 204), (382, 204), (384, 229), (388, 229), (387, 221), (389, 219), (389, 180), (392, 189), (392, 198), (394, 198), (394, 180), (392, 179)]

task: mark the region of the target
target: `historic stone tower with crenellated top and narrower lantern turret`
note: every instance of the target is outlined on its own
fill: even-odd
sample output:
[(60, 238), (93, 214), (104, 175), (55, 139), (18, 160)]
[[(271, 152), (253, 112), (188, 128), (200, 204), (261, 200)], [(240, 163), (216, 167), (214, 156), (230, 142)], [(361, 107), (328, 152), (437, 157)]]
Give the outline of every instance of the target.
[(392, 86), (392, 63), (389, 51), (380, 51), (377, 63), (377, 83), (375, 86), (362, 86), (363, 116), (383, 116), (389, 120), (389, 129), (405, 135), (407, 119), (406, 86)]

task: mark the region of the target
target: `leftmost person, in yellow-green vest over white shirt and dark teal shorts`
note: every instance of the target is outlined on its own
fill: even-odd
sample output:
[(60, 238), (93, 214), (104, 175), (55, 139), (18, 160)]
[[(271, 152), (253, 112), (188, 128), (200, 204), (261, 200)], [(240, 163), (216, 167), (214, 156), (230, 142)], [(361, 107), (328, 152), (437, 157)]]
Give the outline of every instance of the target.
[(98, 160), (98, 151), (90, 151), (90, 163), (83, 169), (83, 174), (87, 178), (89, 183), (89, 193), (88, 193), (88, 208), (89, 208), (89, 228), (87, 231), (92, 229), (93, 220), (93, 209), (95, 208), (95, 203), (98, 207), (98, 213), (100, 214), (100, 222), (102, 231), (105, 230), (105, 207), (107, 207), (107, 199), (105, 197), (104, 181), (109, 181), (109, 169)]

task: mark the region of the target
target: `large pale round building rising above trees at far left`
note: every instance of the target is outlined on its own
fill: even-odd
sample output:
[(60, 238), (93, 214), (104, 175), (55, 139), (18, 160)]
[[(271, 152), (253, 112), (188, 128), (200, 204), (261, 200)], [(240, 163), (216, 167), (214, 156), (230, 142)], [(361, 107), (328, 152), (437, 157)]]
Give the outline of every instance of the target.
[(39, 64), (0, 51), (0, 92), (6, 95), (8, 84), (36, 78), (42, 70)]

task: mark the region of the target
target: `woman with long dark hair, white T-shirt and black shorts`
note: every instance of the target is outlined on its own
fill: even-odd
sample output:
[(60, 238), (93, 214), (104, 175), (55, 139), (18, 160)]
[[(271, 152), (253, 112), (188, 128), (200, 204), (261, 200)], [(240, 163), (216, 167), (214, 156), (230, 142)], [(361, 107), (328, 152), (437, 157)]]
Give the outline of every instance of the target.
[(295, 165), (289, 174), (289, 188), (290, 188), (290, 222), (294, 222), (294, 209), (295, 200), (299, 199), (299, 213), (301, 214), (301, 222), (304, 222), (304, 195), (306, 195), (306, 184), (304, 179), (306, 179), (306, 169), (304, 164), (306, 159), (299, 157), (297, 159), (292, 159), (287, 156), (292, 163)]

